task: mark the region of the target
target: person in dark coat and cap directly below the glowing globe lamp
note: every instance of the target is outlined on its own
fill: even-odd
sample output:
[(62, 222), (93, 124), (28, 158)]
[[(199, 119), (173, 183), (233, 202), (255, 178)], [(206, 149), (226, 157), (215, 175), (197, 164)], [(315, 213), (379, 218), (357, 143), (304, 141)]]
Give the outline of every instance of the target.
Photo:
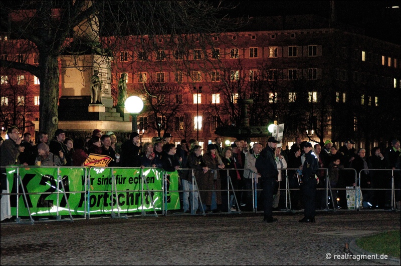
[(140, 167), (139, 156), (141, 143), (138, 132), (132, 132), (129, 139), (121, 145), (120, 165), (123, 167)]

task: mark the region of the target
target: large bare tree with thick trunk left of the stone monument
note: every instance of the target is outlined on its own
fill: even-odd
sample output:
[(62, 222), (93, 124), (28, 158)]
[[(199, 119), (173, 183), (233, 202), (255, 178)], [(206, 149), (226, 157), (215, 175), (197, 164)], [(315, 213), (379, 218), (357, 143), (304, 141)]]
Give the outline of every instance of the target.
[[(179, 50), (189, 46), (194, 37), (191, 33), (199, 33), (202, 41), (203, 35), (223, 32), (227, 25), (233, 25), (219, 17), (221, 6), (216, 7), (209, 1), (6, 0), (1, 2), (1, 10), (2, 31), (9, 38), (7, 42), (2, 41), (2, 51), (14, 56), (40, 54), (38, 64), (13, 56), (2, 57), (0, 64), (39, 78), (39, 129), (49, 135), (57, 128), (61, 54), (90, 51), (116, 58), (118, 54), (113, 51), (127, 47), (133, 42), (132, 36), (141, 40), (144, 36), (154, 39), (152, 36), (156, 35)], [(118, 41), (109, 42), (111, 36)], [(149, 51), (159, 48), (156, 42), (149, 42)], [(138, 47), (134, 50), (139, 52)]]

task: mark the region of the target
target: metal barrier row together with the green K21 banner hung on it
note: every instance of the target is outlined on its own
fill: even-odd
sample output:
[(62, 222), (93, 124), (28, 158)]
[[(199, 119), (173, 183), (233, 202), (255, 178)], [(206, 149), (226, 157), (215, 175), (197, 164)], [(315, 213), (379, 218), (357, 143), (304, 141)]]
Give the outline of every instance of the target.
[[(346, 191), (353, 190), (354, 202), (350, 204), (348, 201), (347, 204), (350, 204), (348, 209), (355, 210), (363, 207), (358, 201), (364, 194), (367, 195), (371, 191), (385, 191), (386, 199), (391, 200), (391, 209), (395, 209), (394, 195), (396, 191), (399, 192), (399, 188), (394, 187), (394, 172), (399, 172), (399, 169), (369, 169), (369, 171), (382, 173), (387, 185), (383, 188), (362, 187), (362, 190), (359, 188), (363, 170), (356, 172), (353, 168), (344, 168), (343, 172), (352, 172), (353, 186), (334, 188), (330, 185), (328, 169), (319, 169), (326, 172), (322, 180), (323, 186), (317, 188), (317, 197), (318, 194), (323, 194), (323, 197), (319, 199), (324, 205), (322, 209), (336, 210), (337, 196), (333, 196), (336, 194), (333, 190), (338, 191), (341, 194), (340, 197), (343, 197)], [(60, 219), (61, 215), (68, 215), (70, 220), (73, 220), (73, 216), (90, 218), (94, 214), (126, 217), (127, 213), (138, 214), (139, 212), (140, 215), (167, 215), (168, 210), (179, 213), (182, 192), (194, 192), (179, 188), (177, 171), (166, 172), (161, 168), (9, 166), (6, 170), (8, 190), (2, 193), (2, 216), (16, 216), (17, 222), (23, 222), (21, 217), (24, 216), (29, 217), (29, 222), (33, 223), (33, 216), (56, 216), (56, 219)], [(196, 184), (198, 180), (194, 178), (193, 169), (182, 168), (182, 170), (191, 171), (192, 184)], [(285, 195), (284, 207), (281, 209), (294, 211), (296, 209), (291, 204), (291, 194), (302, 189), (302, 184), (299, 188), (290, 186), (288, 171), (297, 170), (296, 168), (281, 170), (284, 173), (283, 182), (285, 183), (280, 188), (281, 194)], [(227, 200), (230, 200), (230, 194), (234, 194), (234, 204), (237, 207), (236, 210), (228, 208), (221, 211), (239, 213), (244, 210), (257, 212), (263, 209), (260, 207), (263, 203), (260, 180), (255, 174), (252, 175), (250, 189), (234, 189), (229, 169), (220, 169), (220, 171), (227, 171), (227, 180), (223, 181), (227, 181), (228, 189), (216, 190), (216, 192), (225, 191)], [(197, 188), (197, 186), (192, 187)], [(205, 191), (196, 190), (198, 193)], [(362, 195), (359, 194), (360, 191)], [(239, 195), (241, 199), (236, 195)], [(190, 204), (193, 204), (195, 199), (191, 198), (191, 200)], [(240, 205), (240, 200), (245, 202), (244, 206)], [(342, 198), (342, 200), (346, 199)], [(202, 204), (202, 197), (199, 197), (199, 201), (197, 213), (205, 215), (206, 208)]]

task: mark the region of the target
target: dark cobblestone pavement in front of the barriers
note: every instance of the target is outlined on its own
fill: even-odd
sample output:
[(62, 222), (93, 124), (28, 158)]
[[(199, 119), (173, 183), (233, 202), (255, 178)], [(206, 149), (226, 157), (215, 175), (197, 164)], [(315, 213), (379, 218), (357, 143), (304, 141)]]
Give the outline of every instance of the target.
[[(1, 265), (380, 265), (346, 255), (352, 239), (400, 228), (400, 212), (134, 216), (1, 224)], [(326, 256), (331, 255), (330, 259)]]

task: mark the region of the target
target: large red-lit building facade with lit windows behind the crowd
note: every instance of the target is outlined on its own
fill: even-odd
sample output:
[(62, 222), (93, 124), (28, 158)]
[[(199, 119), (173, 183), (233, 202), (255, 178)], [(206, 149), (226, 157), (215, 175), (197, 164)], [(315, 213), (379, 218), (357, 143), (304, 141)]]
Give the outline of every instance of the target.
[[(283, 146), (299, 135), (339, 145), (352, 138), (357, 146), (370, 148), (400, 134), (398, 44), (329, 26), (311, 15), (255, 17), (238, 32), (216, 33), (207, 40), (200, 34), (190, 37), (190, 46), (165, 36), (129, 37), (124, 47), (113, 45), (115, 104), (118, 79), (126, 73), (128, 95), (139, 95), (145, 103), (138, 116), (145, 141), (169, 132), (175, 141), (197, 138), (206, 147), (219, 136), (219, 127), (242, 123), (242, 99), (253, 100), (245, 110), (251, 126), (267, 131), (271, 123), (285, 124)], [(118, 40), (111, 36), (104, 42)], [(4, 91), (16, 78), (4, 73), (2, 112), (9, 101)], [(30, 91), (37, 93), (34, 76), (18, 75), (32, 79)], [(39, 104), (38, 95), (33, 105)], [(234, 140), (232, 134), (223, 137)]]

